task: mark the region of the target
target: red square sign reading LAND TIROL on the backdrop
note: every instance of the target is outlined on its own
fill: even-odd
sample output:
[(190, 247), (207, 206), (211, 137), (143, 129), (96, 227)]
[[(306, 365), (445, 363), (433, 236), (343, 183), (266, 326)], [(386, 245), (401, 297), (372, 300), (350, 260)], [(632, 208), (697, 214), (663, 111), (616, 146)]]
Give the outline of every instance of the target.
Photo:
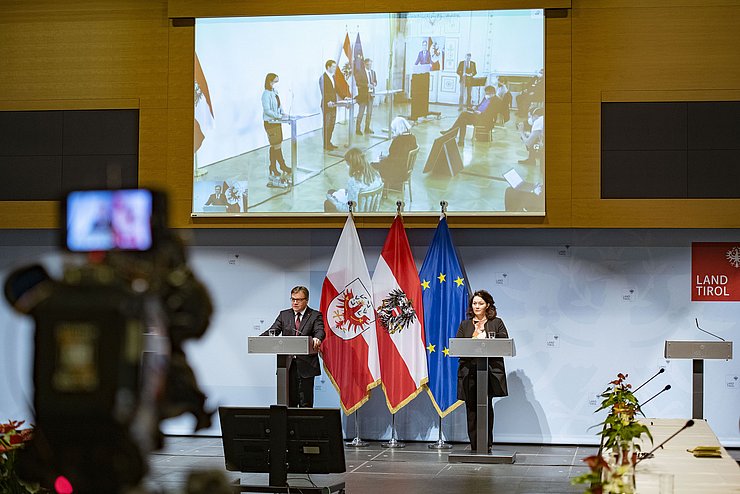
[(740, 242), (691, 244), (691, 300), (740, 301)]

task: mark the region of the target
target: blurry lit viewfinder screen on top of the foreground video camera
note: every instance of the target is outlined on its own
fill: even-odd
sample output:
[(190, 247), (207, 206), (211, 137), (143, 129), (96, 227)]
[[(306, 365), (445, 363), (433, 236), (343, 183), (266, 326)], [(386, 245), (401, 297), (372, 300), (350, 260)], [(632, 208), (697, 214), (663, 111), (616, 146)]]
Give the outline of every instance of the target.
[(152, 247), (152, 193), (148, 190), (72, 192), (66, 211), (66, 248), (70, 251), (146, 251)]

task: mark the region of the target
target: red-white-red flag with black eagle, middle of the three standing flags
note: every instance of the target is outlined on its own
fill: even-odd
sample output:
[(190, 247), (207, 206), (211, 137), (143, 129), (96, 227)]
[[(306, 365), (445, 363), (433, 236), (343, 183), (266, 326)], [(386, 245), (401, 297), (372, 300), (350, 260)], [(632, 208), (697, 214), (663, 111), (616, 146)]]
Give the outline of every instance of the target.
[(421, 284), (401, 216), (396, 216), (373, 273), (380, 376), (396, 413), (427, 382)]

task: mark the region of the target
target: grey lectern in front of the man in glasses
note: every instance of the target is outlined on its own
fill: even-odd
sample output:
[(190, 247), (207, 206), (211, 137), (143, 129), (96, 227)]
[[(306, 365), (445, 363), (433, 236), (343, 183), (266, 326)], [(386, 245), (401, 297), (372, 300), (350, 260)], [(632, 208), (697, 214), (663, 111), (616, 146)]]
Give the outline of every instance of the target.
[(294, 355), (313, 355), (310, 336), (250, 336), (247, 338), (250, 354), (277, 355), (277, 404), (288, 405), (290, 379), (288, 370)]

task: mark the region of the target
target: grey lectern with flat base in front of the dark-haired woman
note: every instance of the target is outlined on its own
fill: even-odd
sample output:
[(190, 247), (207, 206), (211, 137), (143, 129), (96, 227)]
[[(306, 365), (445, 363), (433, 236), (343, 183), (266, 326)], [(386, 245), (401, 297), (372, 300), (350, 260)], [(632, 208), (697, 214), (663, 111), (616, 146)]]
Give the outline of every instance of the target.
[(450, 463), (514, 463), (516, 452), (492, 449), (488, 451), (488, 358), (516, 355), (512, 338), (473, 339), (450, 338), (450, 356), (476, 360), (476, 442), (470, 453), (451, 453)]

